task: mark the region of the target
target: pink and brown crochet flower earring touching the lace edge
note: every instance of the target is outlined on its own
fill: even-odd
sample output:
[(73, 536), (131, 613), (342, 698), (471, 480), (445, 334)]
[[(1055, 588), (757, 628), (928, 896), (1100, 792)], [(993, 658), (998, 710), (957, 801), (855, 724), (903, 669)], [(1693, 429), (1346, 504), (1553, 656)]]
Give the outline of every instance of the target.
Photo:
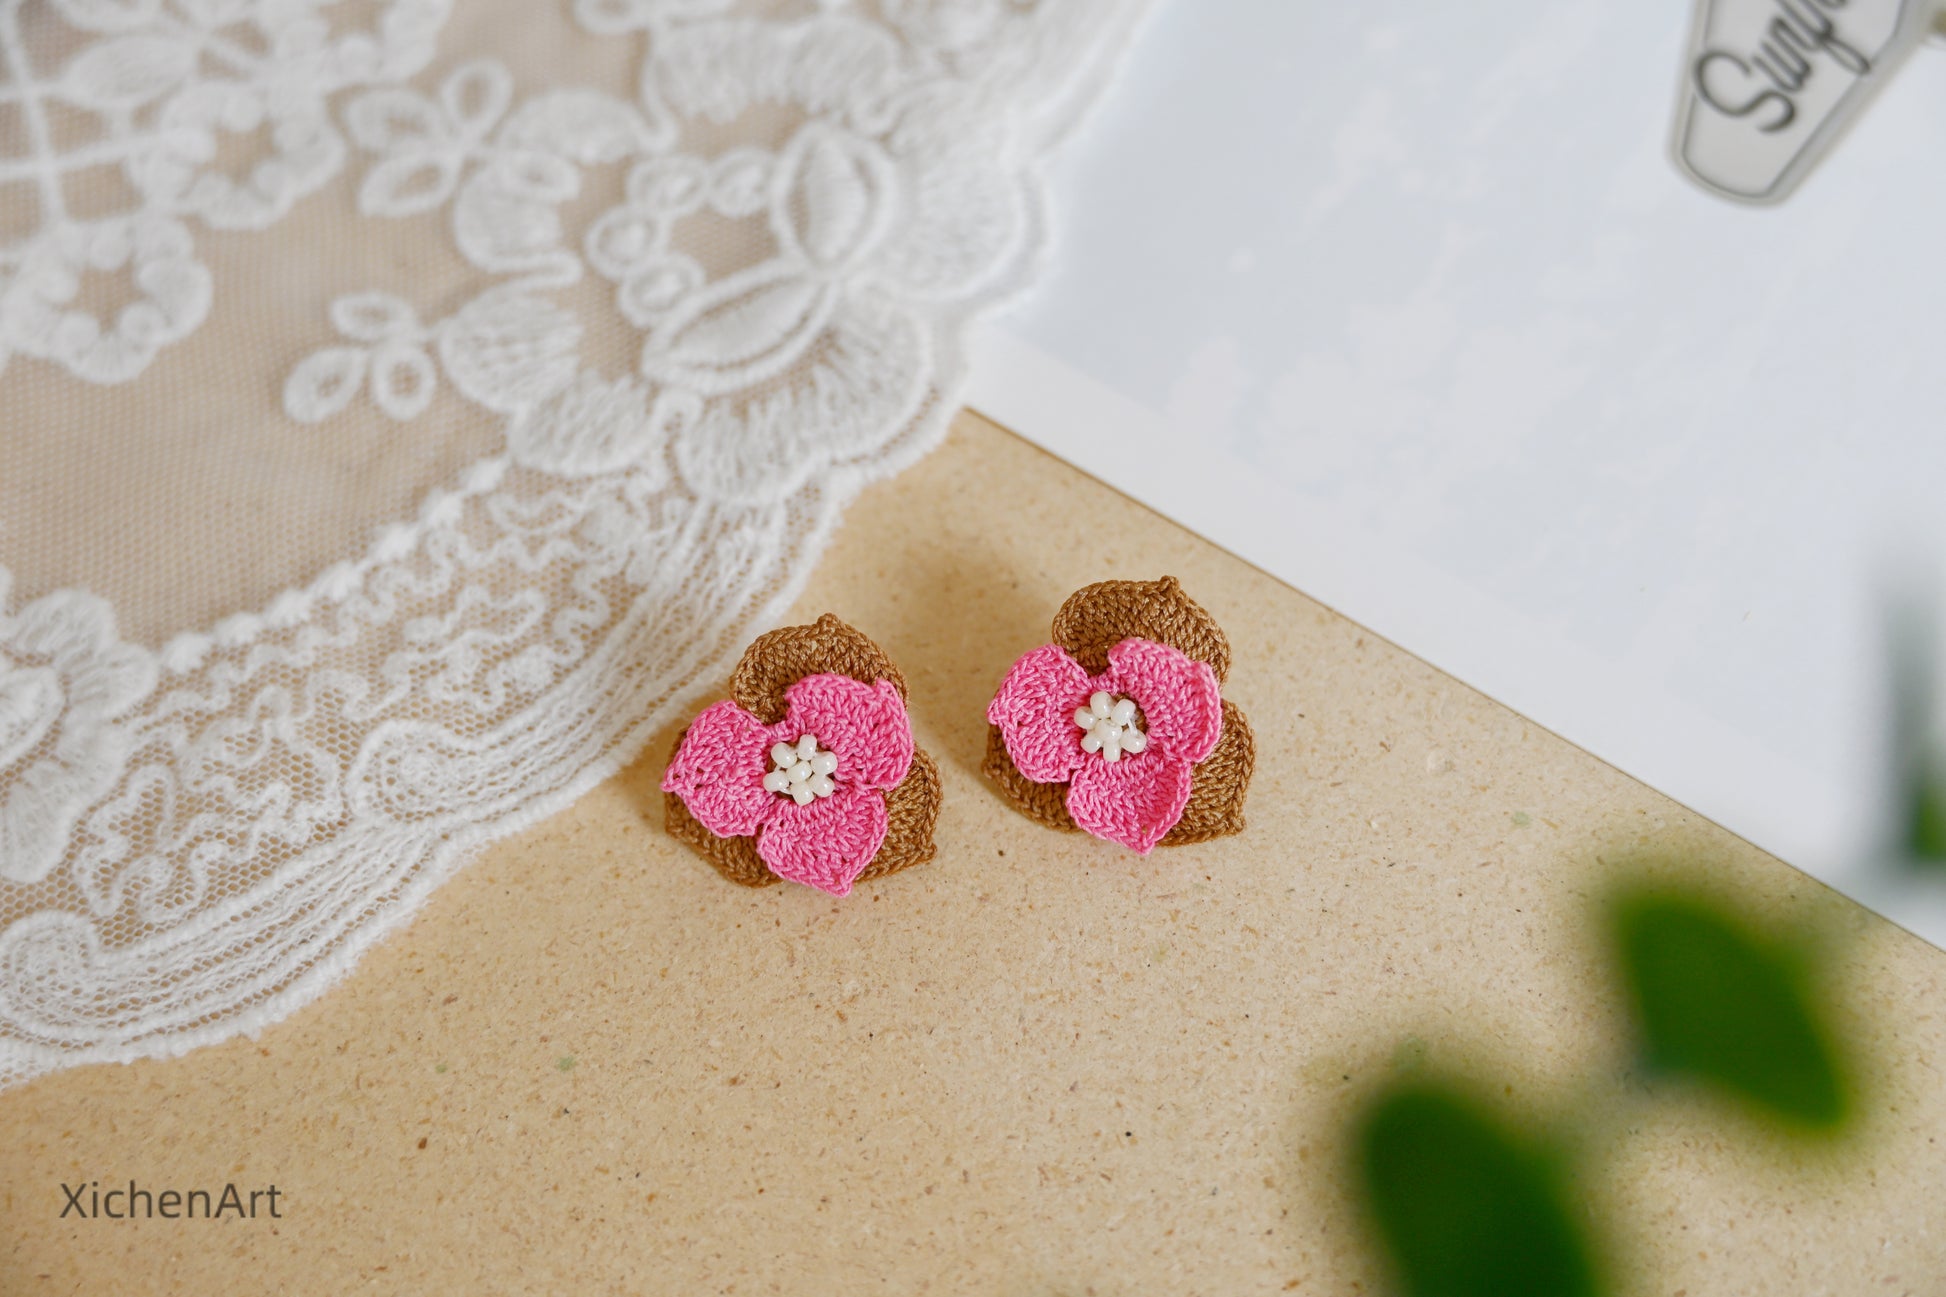
[(730, 882), (845, 896), (932, 859), (940, 773), (913, 744), (905, 678), (825, 613), (771, 631), (675, 740), (669, 834)]

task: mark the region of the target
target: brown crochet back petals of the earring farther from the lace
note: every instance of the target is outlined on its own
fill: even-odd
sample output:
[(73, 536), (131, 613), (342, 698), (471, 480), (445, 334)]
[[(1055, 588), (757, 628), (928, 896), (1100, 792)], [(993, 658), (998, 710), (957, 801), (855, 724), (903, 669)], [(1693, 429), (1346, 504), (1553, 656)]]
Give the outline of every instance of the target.
[[(1055, 613), (1055, 643), (1092, 674), (1107, 670), (1107, 650), (1125, 639), (1152, 639), (1210, 664), (1216, 682), (1230, 674), (1230, 641), (1173, 576), (1162, 580), (1101, 580), (1068, 596)], [(1243, 797), (1257, 765), (1257, 740), (1243, 709), (1224, 699), (1222, 740), (1195, 769), (1183, 816), (1158, 845), (1179, 847), (1243, 832)], [(1029, 820), (1078, 834), (1068, 814), (1068, 785), (1035, 783), (1006, 754), (1000, 726), (987, 726), (981, 771)]]

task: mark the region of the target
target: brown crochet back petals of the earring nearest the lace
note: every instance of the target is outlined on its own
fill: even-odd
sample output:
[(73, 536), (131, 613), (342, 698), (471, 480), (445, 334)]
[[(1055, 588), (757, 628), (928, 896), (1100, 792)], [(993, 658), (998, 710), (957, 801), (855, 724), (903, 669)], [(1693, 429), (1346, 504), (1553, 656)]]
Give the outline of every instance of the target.
[[(730, 678), (730, 697), (765, 724), (784, 719), (784, 689), (806, 676), (839, 674), (864, 684), (889, 680), (905, 697), (905, 676), (885, 650), (860, 631), (831, 613), (813, 625), (786, 625), (759, 635)], [(675, 736), (675, 750), (689, 734), (685, 726)], [(671, 756), (673, 752), (671, 750)], [(767, 888), (782, 882), (757, 855), (755, 837), (718, 837), (689, 814), (675, 793), (664, 793), (664, 826), (669, 835), (706, 859), (730, 882), (747, 888)], [(897, 789), (885, 795), (885, 841), (858, 878), (883, 878), (913, 865), (924, 865), (934, 855), (932, 826), (940, 818), (940, 769), (920, 748), (913, 748), (913, 767)]]

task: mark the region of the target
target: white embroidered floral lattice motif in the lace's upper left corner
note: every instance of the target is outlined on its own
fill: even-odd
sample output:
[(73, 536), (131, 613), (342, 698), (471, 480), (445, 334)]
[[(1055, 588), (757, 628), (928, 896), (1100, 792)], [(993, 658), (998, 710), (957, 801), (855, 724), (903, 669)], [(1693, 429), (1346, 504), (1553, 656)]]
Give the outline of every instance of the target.
[[(265, 230), (344, 166), (331, 95), (405, 82), (434, 55), (450, 0), (391, 0), (372, 29), (333, 35), (335, 0), (51, 0), (49, 18), (95, 37), (58, 68), (37, 66), (23, 0), (0, 0), (0, 93), (27, 150), (0, 156), (0, 185), (37, 191), (37, 222), (0, 245), (0, 370), (10, 354), (93, 384), (138, 376), (208, 317), (210, 271), (193, 224)], [(93, 121), (62, 144), (51, 107)], [(226, 136), (265, 136), (243, 175), (216, 158)], [(119, 167), (121, 210), (76, 216), (70, 187)], [(76, 306), (86, 275), (125, 282), (115, 319)]]

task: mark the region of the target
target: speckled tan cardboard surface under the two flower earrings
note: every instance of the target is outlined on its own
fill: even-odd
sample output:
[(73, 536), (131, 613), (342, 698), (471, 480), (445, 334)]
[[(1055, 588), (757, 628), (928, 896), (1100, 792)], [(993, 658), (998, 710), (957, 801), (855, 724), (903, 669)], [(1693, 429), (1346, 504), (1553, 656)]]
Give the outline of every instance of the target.
[[(979, 777), (1061, 598), (1173, 573), (1228, 629), (1249, 832), (1148, 859)], [(1403, 1056), (1545, 1120), (1625, 1059), (1590, 906), (1681, 851), (1820, 931), (1849, 1149), (1617, 1083), (1584, 1182), (1627, 1291), (1946, 1281), (1946, 956), (965, 415), (847, 514), (796, 619), (911, 684), (934, 863), (848, 900), (660, 830), (669, 732), (257, 1040), (0, 1094), (6, 1293), (1356, 1293), (1343, 1120)], [(60, 1219), (60, 1186), (257, 1219)]]

